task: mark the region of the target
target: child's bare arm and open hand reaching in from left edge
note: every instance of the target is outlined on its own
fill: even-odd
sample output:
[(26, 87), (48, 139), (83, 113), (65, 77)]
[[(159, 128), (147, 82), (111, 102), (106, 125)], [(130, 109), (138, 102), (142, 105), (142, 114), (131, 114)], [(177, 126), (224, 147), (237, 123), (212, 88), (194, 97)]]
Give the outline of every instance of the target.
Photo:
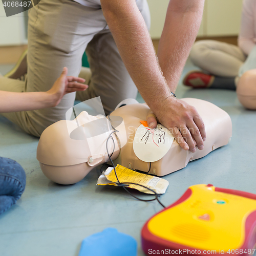
[(84, 91), (88, 88), (82, 84), (85, 80), (79, 77), (67, 76), (64, 68), (53, 87), (47, 92), (14, 93), (0, 91), (0, 113), (28, 111), (56, 106), (62, 97), (71, 92)]

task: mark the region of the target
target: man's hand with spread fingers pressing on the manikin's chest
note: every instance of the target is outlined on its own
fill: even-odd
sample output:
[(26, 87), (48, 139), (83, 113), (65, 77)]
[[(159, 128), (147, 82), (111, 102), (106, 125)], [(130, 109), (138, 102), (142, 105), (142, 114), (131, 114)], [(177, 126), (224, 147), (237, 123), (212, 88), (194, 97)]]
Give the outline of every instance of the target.
[(203, 150), (203, 141), (206, 140), (204, 122), (194, 106), (170, 96), (161, 108), (156, 115), (152, 111), (148, 112), (148, 126), (155, 128), (159, 120), (173, 134), (183, 150), (196, 152), (196, 145), (199, 150)]

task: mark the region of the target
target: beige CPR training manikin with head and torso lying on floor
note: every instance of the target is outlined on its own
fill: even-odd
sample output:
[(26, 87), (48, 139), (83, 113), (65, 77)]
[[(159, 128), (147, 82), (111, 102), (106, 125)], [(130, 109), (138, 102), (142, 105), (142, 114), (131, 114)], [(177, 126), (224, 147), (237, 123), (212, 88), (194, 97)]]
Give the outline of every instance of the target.
[[(149, 108), (146, 104), (137, 103), (113, 111), (110, 115), (111, 124), (102, 115), (91, 116), (87, 112), (81, 112), (75, 120), (61, 120), (50, 125), (42, 133), (37, 147), (37, 160), (42, 172), (50, 180), (60, 184), (73, 184), (82, 180), (95, 166), (108, 162), (106, 142), (113, 132), (111, 125), (118, 131), (111, 134), (113, 139), (108, 140), (109, 153), (114, 152), (111, 157), (115, 160), (114, 163), (143, 172), (149, 170), (149, 174), (157, 176), (184, 168), (189, 161), (204, 157), (228, 143), (232, 124), (225, 111), (204, 100), (182, 100), (195, 106), (204, 121), (207, 138), (202, 151), (191, 153), (183, 150), (176, 140), (172, 139), (172, 135), (166, 134), (163, 126), (158, 125), (154, 131), (143, 128), (140, 121), (146, 120)], [(136, 142), (136, 131), (139, 127), (146, 131), (144, 134), (142, 131), (139, 142), (147, 145), (148, 141), (152, 140), (152, 145), (155, 144), (154, 153), (147, 152), (142, 156), (145, 161), (140, 160), (138, 152), (135, 154), (136, 143), (139, 143)], [(163, 147), (163, 143), (167, 143), (169, 147)], [(153, 159), (157, 155), (155, 150), (159, 151), (159, 148), (163, 148), (160, 153), (163, 156), (159, 155), (159, 160)], [(150, 154), (152, 157), (143, 158)]]

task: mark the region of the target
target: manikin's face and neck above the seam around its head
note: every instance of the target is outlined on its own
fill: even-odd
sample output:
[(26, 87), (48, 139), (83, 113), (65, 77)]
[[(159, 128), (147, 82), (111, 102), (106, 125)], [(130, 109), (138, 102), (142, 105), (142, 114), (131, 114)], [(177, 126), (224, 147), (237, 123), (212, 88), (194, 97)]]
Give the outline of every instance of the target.
[[(122, 118), (111, 117), (111, 121), (103, 115), (92, 116), (83, 111), (74, 120), (61, 120), (50, 125), (39, 140), (38, 161), (55, 166), (83, 162), (94, 166), (103, 159), (108, 161), (106, 142), (110, 154), (120, 149), (117, 136), (121, 147), (126, 143)], [(118, 131), (117, 136), (112, 125)], [(111, 134), (113, 139), (108, 140)]]

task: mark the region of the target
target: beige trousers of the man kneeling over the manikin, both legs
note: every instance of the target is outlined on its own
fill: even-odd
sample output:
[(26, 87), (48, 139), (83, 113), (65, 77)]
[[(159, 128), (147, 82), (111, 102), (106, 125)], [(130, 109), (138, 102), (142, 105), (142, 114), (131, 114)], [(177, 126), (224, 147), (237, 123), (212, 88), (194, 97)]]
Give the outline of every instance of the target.
[[(138, 0), (137, 6), (149, 28), (150, 12), (146, 0)], [(63, 67), (68, 67), (68, 75), (79, 75), (84, 50), (92, 77), (89, 88), (77, 93), (77, 99), (83, 101), (100, 96), (104, 111), (109, 114), (121, 100), (136, 98), (137, 88), (121, 60), (102, 10), (71, 0), (41, 0), (30, 10), (26, 81), (0, 77), (0, 91), (48, 91)], [(25, 132), (39, 137), (46, 127), (66, 118), (75, 97), (75, 93), (65, 95), (55, 108), (3, 116)]]

